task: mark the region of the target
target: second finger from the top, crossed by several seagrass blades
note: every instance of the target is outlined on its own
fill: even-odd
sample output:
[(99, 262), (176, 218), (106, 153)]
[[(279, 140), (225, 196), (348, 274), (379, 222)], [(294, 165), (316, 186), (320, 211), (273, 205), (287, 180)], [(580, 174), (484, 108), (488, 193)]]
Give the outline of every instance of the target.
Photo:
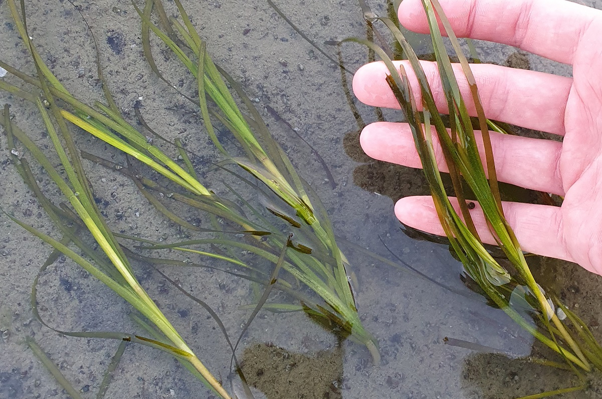
[[(404, 65), (416, 103), (421, 109), (420, 85), (409, 62), (394, 61), (394, 64), (396, 67), (399, 64)], [(442, 114), (448, 114), (447, 100), (442, 90), (437, 65), (428, 61), (421, 61), (421, 65), (437, 109)], [(473, 97), (462, 67), (459, 64), (452, 64), (452, 67), (468, 112), (476, 117)], [(573, 79), (492, 64), (472, 64), (470, 68), (476, 79), (487, 118), (527, 129), (564, 134), (565, 107)], [(382, 62), (371, 62), (362, 66), (353, 76), (353, 93), (367, 105), (399, 108), (399, 103), (385, 81), (387, 74), (388, 69)]]

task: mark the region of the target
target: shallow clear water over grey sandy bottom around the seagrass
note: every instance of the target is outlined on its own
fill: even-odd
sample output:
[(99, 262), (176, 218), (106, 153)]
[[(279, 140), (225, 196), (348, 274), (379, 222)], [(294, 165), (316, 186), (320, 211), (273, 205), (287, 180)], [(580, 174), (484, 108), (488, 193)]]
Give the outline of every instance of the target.
[[(353, 1), (281, 3), (282, 11), (317, 43), (365, 34), (361, 10)], [(599, 7), (601, 3), (588, 5)], [(133, 118), (132, 107), (140, 102), (147, 123), (169, 139), (181, 138), (198, 155), (196, 165), (200, 170), (219, 159), (201, 124), (190, 115), (167, 109), (182, 100), (152, 75), (144, 61), (139, 21), (131, 4), (106, 0), (76, 4), (82, 5), (85, 20), (99, 44), (108, 84), (126, 114)], [(166, 2), (167, 6), (168, 13), (175, 11), (172, 3)], [(366, 329), (379, 341), (381, 365), (371, 364), (370, 354), (358, 344), (346, 342), (338, 347), (334, 336), (304, 314), (262, 311), (241, 341), (238, 353), (249, 383), (270, 399), (510, 398), (576, 383), (570, 373), (445, 345), (444, 337), (451, 337), (517, 358), (532, 353), (533, 340), (503, 312), (487, 306), (464, 286), (460, 264), (447, 246), (410, 239), (400, 230), (393, 215), (393, 201), (425, 193), (421, 172), (362, 157), (358, 128), (344, 97), (340, 73), (331, 61), (291, 29), (264, 0), (187, 1), (184, 6), (208, 41), (214, 60), (256, 99), (270, 130), (322, 198), (337, 234), (396, 261), (388, 247), (438, 283), (346, 251), (359, 282), (355, 287), (359, 313)], [(54, 0), (31, 1), (27, 7), (29, 33), (53, 72), (78, 97), (100, 98), (94, 47), (79, 13), (69, 2)], [(382, 4), (372, 7), (376, 13), (384, 13)], [(1, 0), (0, 20), (0, 58), (32, 73), (33, 65), (10, 22), (8, 5)], [(335, 55), (332, 48), (324, 48)], [(477, 49), (486, 62), (504, 64), (509, 58), (517, 62), (515, 49), (509, 47), (478, 43)], [(166, 77), (178, 82), (182, 71), (170, 67), (177, 62), (168, 56), (168, 52), (155, 51)], [(358, 46), (346, 46), (344, 57), (347, 67), (355, 70), (365, 62), (366, 52)], [(566, 65), (533, 55), (518, 59), (535, 70), (570, 74)], [(8, 76), (4, 79), (15, 82)], [(189, 90), (189, 84), (185, 81), (182, 90)], [(14, 122), (23, 130), (33, 134), (43, 131), (31, 105), (5, 93), (0, 93), (0, 99), (11, 105)], [(334, 189), (311, 150), (265, 106), (275, 110), (316, 148), (332, 171)], [(359, 110), (365, 121), (374, 120), (370, 108), (359, 106)], [(399, 118), (395, 112), (386, 115), (389, 120)], [(90, 152), (104, 157), (115, 154), (86, 136), (77, 140)], [(0, 148), (2, 206), (19, 217), (23, 215), (29, 224), (51, 232), (49, 219), (42, 215), (43, 210), (8, 162), (5, 136), (0, 137)], [(119, 156), (114, 160), (123, 162)], [(131, 181), (99, 166), (86, 166), (96, 195), (106, 200), (103, 210), (115, 230), (168, 242), (184, 236), (144, 200)], [(217, 193), (226, 192), (220, 181), (227, 176), (209, 172), (203, 178)], [(48, 178), (41, 179), (45, 187)], [(0, 342), (0, 398), (66, 396), (26, 349), (24, 339), (28, 336), (36, 339), (83, 397), (95, 397), (118, 343), (66, 338), (41, 326), (29, 308), (29, 293), (37, 270), (51, 250), (6, 218), (2, 218), (0, 228), (0, 287), (4, 298), (0, 302), (0, 330), (8, 331)], [(597, 326), (601, 279), (559, 261), (544, 260), (538, 265), (536, 273), (545, 278), (548, 290), (561, 295), (571, 307), (579, 305), (586, 323)], [(230, 355), (213, 320), (193, 301), (166, 286), (160, 275), (144, 265), (136, 267), (144, 287), (199, 358), (226, 381)], [(240, 334), (250, 313), (240, 306), (252, 302), (248, 282), (205, 269), (166, 267), (163, 271), (208, 303), (231, 337)], [(42, 273), (38, 297), (42, 317), (55, 328), (138, 331), (127, 317), (129, 305), (64, 258)], [(287, 298), (278, 294), (276, 299)], [(598, 334), (596, 327), (594, 332)], [(536, 351), (541, 352), (541, 348)], [(584, 395), (598, 397), (597, 389), (566, 397)], [(211, 396), (174, 359), (147, 347), (130, 345), (106, 397)]]

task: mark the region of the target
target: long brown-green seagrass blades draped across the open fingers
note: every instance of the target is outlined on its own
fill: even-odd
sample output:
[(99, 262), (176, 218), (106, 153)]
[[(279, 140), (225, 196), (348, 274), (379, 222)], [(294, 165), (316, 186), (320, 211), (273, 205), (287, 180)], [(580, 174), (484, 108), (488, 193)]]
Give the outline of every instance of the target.
[[(556, 350), (556, 352), (559, 352), (567, 360), (569, 365), (572, 366), (571, 362), (573, 362), (584, 370), (589, 370), (588, 362), (585, 356), (583, 356), (579, 346), (577, 346), (575, 341), (568, 334), (556, 315), (548, 310), (549, 305), (545, 300), (544, 294), (540, 288), (536, 286), (535, 280), (529, 271), (529, 267), (524, 261), (524, 256), (520, 250), (520, 246), (518, 246), (516, 237), (509, 228), (509, 225), (507, 225), (503, 213), (501, 212), (497, 181), (495, 180), (495, 166), (492, 163), (491, 145), (487, 142), (487, 121), (483, 114), (482, 106), (480, 106), (476, 84), (474, 84), (474, 77), (472, 76), (470, 69), (468, 69), (467, 60), (463, 55), (459, 54), (458, 56), (461, 59), (462, 67), (467, 76), (474, 103), (477, 104), (480, 128), (483, 130), (482, 135), (487, 153), (486, 164), (488, 166), (489, 181), (485, 175), (483, 163), (479, 156), (479, 150), (476, 147), (472, 122), (468, 116), (464, 99), (462, 99), (462, 96), (460, 95), (458, 83), (456, 82), (447, 52), (442, 42), (441, 33), (438, 30), (438, 20), (441, 20), (447, 30), (448, 36), (450, 36), (452, 40), (456, 52), (459, 53), (461, 51), (459, 49), (458, 40), (453, 36), (450, 25), (445, 19), (437, 1), (423, 0), (423, 5), (432, 32), (433, 49), (435, 49), (436, 58), (438, 59), (439, 75), (441, 76), (443, 92), (447, 99), (449, 114), (451, 115), (451, 136), (448, 134), (447, 129), (445, 129), (445, 126), (439, 117), (438, 109), (435, 106), (432, 92), (430, 91), (426, 75), (421, 68), (420, 62), (408, 42), (403, 37), (403, 34), (393, 22), (386, 18), (382, 19), (391, 32), (393, 32), (393, 35), (408, 56), (411, 67), (418, 78), (423, 97), (424, 125), (421, 121), (420, 114), (418, 114), (417, 105), (415, 104), (412, 92), (409, 88), (409, 81), (403, 66), (400, 67), (399, 71), (396, 70), (388, 56), (386, 56), (386, 53), (377, 46), (362, 40), (355, 41), (366, 44), (368, 47), (372, 48), (374, 52), (379, 53), (380, 58), (383, 59), (389, 69), (390, 75), (387, 76), (386, 81), (388, 82), (389, 87), (391, 87), (391, 90), (393, 90), (402, 111), (406, 115), (406, 120), (408, 120), (411, 127), (415, 146), (420, 156), (421, 163), (423, 164), (424, 174), (426, 175), (432, 190), (435, 209), (439, 215), (441, 225), (450, 240), (450, 244), (453, 246), (456, 254), (467, 269), (468, 274), (478, 282), (488, 296), (491, 297), (500, 308), (504, 309), (510, 317), (529, 330), (529, 332), (541, 340), (542, 343), (546, 344), (551, 349)], [(435, 8), (436, 13), (433, 10), (433, 7)], [(467, 224), (459, 218), (445, 193), (441, 176), (438, 171), (438, 165), (435, 160), (430, 124), (431, 118), (439, 142), (441, 142), (448, 169), (452, 174), (455, 174), (455, 176), (452, 175), (452, 180), (458, 195), (458, 200), (460, 201), (462, 215), (465, 216)], [(456, 168), (457, 172), (455, 171)], [(491, 173), (491, 170), (493, 170), (493, 173)], [(486, 251), (480, 242), (474, 227), (471, 225), (470, 213), (468, 213), (465, 202), (462, 200), (462, 187), (459, 181), (459, 175), (467, 181), (474, 195), (476, 195), (477, 200), (481, 203), (492, 233), (497, 237), (498, 244), (504, 250), (514, 266), (517, 267), (521, 276), (526, 280), (527, 284), (529, 284), (533, 296), (535, 296), (541, 304), (543, 315), (542, 323), (547, 326), (551, 339), (545, 337), (545, 335), (541, 334), (535, 327), (530, 326), (521, 315), (508, 306), (507, 299), (505, 299), (504, 294), (501, 294), (501, 292), (506, 290), (503, 287), (503, 284), (506, 284), (509, 281), (510, 276), (506, 270), (502, 269), (494, 258), (491, 257), (489, 252)], [(545, 315), (548, 315), (551, 318), (551, 321), (554, 323), (553, 328), (550, 327), (550, 323), (548, 323)], [(559, 343), (557, 343), (556, 340), (556, 334), (563, 338), (571, 350), (573, 350), (574, 354), (559, 346)]]

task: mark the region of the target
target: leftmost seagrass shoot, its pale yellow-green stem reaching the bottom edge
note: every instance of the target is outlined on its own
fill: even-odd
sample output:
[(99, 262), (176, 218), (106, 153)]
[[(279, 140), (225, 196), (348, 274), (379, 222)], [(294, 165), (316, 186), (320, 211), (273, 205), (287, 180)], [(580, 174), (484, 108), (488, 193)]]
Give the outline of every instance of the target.
[[(14, 0), (9, 0), (8, 5), (13, 14), (17, 29), (19, 30), (27, 49), (33, 56), (38, 74), (38, 79), (34, 79), (33, 81), (35, 81), (37, 87), (42, 90), (44, 98), (44, 100), (42, 100), (40, 97), (34, 97), (33, 94), (26, 94), (26, 99), (34, 100), (36, 103), (37, 108), (42, 115), (46, 131), (54, 146), (55, 153), (60, 159), (61, 166), (63, 167), (64, 174), (66, 174), (67, 178), (63, 178), (61, 173), (54, 167), (51, 160), (42, 153), (40, 148), (18, 129), (18, 127), (11, 123), (8, 105), (5, 105), (2, 112), (2, 125), (7, 133), (8, 147), (11, 148), (11, 157), (17, 170), (33, 192), (37, 194), (43, 208), (55, 222), (55, 226), (58, 230), (63, 233), (64, 239), (56, 240), (51, 236), (42, 233), (42, 231), (36, 230), (36, 228), (20, 222), (13, 216), (8, 215), (4, 210), (2, 210), (2, 212), (21, 227), (25, 228), (25, 230), (29, 231), (29, 233), (34, 234), (67, 257), (71, 258), (88, 273), (92, 274), (103, 284), (107, 285), (107, 287), (111, 288), (111, 290), (115, 291), (120, 297), (128, 301), (135, 309), (151, 321), (151, 323), (153, 323), (162, 333), (161, 340), (144, 338), (137, 335), (120, 334), (110, 338), (145, 344), (184, 359), (200, 374), (203, 382), (211, 389), (214, 389), (214, 391), (223, 398), (229, 398), (228, 392), (223, 389), (213, 374), (211, 374), (200, 359), (197, 358), (193, 350), (185, 343), (184, 338), (181, 337), (175, 327), (167, 320), (167, 317), (161, 312), (157, 304), (151, 299), (149, 294), (147, 294), (146, 290), (144, 290), (135, 277), (134, 270), (132, 269), (128, 258), (125, 256), (125, 252), (123, 252), (119, 242), (117, 242), (113, 233), (111, 233), (111, 230), (96, 207), (95, 199), (92, 194), (92, 187), (82, 168), (78, 150), (67, 130), (64, 116), (68, 114), (68, 112), (59, 108), (57, 105), (55, 97), (56, 93), (61, 93), (67, 97), (70, 97), (70, 95), (60, 82), (57, 81), (54, 75), (52, 75), (48, 67), (43, 64), (36, 47), (30, 40), (27, 34), (25, 10), (21, 10), (22, 16), (20, 16)], [(0, 84), (2, 85), (2, 88), (9, 88), (5, 82), (0, 82)], [(54, 94), (52, 93), (53, 91)], [(58, 126), (58, 132), (55, 126)], [(105, 129), (105, 132), (109, 135), (113, 135), (113, 133), (108, 132), (108, 129)], [(15, 139), (24, 145), (40, 166), (42, 166), (43, 170), (49, 175), (58, 190), (60, 190), (64, 197), (67, 198), (72, 209), (60, 209), (54, 206), (54, 204), (42, 194), (28, 163), (25, 159), (20, 157), (19, 151), (16, 150)], [(74, 216), (76, 215), (75, 222), (78, 222), (76, 228), (66, 224), (70, 218), (65, 217), (65, 213), (72, 213)], [(61, 219), (60, 216), (63, 216), (63, 218)], [(73, 218), (71, 219), (73, 220)], [(107, 256), (109, 262), (107, 262), (105, 258), (99, 258), (98, 255), (93, 254), (93, 251), (89, 251), (88, 247), (82, 243), (78, 234), (76, 234), (78, 228), (85, 228), (92, 234), (96, 243), (98, 243), (99, 247)], [(69, 246), (67, 246), (69, 242), (76, 243), (85, 255), (87, 255), (87, 258), (70, 249)], [(35, 309), (34, 312), (37, 313)]]

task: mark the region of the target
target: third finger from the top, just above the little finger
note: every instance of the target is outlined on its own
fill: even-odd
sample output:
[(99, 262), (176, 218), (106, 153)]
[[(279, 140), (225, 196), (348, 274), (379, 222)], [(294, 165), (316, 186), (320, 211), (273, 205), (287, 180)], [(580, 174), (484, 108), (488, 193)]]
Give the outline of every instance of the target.
[[(481, 159), (485, 150), (481, 135), (475, 132)], [(559, 173), (562, 143), (489, 132), (497, 178), (528, 189), (564, 195)], [(421, 168), (414, 138), (407, 123), (377, 122), (364, 127), (360, 136), (368, 156), (398, 165)], [(433, 135), (433, 148), (439, 170), (447, 172), (441, 145)]]

